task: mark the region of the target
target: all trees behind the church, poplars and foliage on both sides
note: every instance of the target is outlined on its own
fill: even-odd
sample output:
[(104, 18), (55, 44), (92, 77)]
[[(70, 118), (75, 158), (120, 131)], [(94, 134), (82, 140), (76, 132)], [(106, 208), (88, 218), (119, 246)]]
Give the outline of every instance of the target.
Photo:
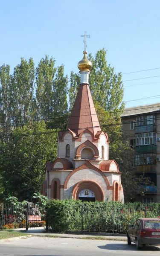
[[(88, 58), (93, 63), (89, 77), (93, 102), (101, 128), (109, 135), (109, 158), (119, 164), (125, 198), (129, 201), (143, 177), (134, 175), (133, 150), (123, 143), (122, 76), (107, 63), (105, 49), (97, 51), (94, 57), (89, 54)], [(57, 134), (52, 131), (66, 128), (79, 83), (79, 73), (72, 71), (68, 88), (64, 65), (56, 67), (55, 59), (48, 55), (36, 68), (32, 58), (21, 58), (13, 74), (9, 65), (0, 67), (1, 198), (31, 198), (40, 191), (45, 163), (56, 157)], [(51, 133), (42, 134), (48, 131)]]

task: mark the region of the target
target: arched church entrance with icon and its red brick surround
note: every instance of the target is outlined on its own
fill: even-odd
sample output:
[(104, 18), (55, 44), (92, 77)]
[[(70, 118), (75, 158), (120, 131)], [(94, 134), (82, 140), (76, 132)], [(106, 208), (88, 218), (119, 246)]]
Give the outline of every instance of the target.
[(82, 180), (73, 187), (72, 198), (82, 201), (104, 201), (104, 193), (95, 181)]

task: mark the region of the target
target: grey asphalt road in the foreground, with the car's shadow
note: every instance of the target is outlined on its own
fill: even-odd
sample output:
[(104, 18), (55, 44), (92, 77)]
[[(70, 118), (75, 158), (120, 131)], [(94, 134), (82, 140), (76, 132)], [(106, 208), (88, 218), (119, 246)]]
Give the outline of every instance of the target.
[(0, 256), (159, 256), (160, 246), (137, 250), (125, 241), (29, 237), (0, 241)]

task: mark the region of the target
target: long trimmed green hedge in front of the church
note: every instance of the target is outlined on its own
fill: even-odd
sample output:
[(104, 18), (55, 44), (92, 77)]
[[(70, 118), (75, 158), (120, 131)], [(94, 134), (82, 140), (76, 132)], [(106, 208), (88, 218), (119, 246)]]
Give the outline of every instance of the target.
[(160, 204), (81, 202), (49, 200), (48, 227), (52, 232), (67, 231), (125, 233), (136, 218), (160, 218)]

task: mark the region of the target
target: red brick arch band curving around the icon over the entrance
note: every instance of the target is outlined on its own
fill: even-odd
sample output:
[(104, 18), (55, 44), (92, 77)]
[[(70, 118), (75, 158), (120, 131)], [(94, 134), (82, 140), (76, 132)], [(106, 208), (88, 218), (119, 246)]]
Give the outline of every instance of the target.
[(95, 201), (104, 201), (104, 193), (98, 183), (92, 180), (81, 180), (73, 187), (72, 198), (78, 200), (82, 189), (90, 189), (95, 194)]

